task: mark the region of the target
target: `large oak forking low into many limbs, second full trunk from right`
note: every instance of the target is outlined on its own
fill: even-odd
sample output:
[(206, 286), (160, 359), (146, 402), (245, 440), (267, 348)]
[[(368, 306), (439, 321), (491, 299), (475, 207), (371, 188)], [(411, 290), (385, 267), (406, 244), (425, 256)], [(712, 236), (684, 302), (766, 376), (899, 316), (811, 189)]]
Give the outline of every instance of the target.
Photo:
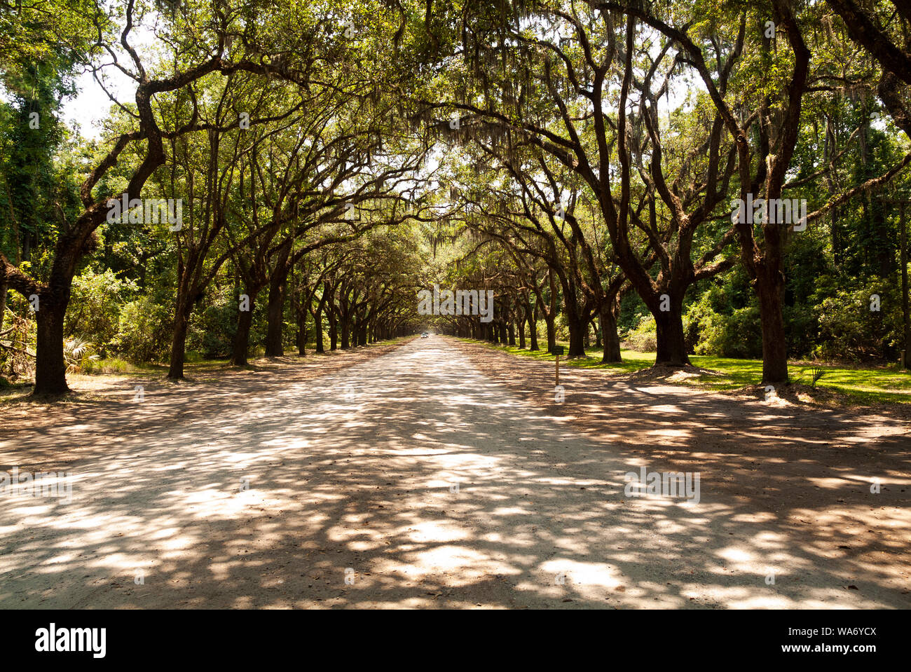
[[(469, 31), (463, 48), (480, 82), (466, 85), (446, 102), (499, 128), (507, 152), (519, 146), (537, 152), (535, 169), (551, 183), (548, 216), (568, 189), (557, 166), (589, 189), (613, 258), (656, 321), (656, 362), (687, 363), (682, 328), (686, 290), (732, 265), (732, 259), (720, 258), (732, 231), (714, 218), (736, 166), (722, 118), (708, 116), (689, 127), (689, 137), (698, 139), (669, 157), (656, 111), (677, 65), (665, 58), (669, 46), (657, 44), (631, 18), (618, 20), (610, 12), (549, 3), (526, 10), (527, 15), (507, 19), (496, 30)], [(565, 35), (559, 33), (560, 25)], [(495, 46), (486, 46), (491, 41)], [(659, 51), (657, 58), (650, 56), (652, 46)], [(722, 81), (731, 66), (732, 61), (718, 65)], [(514, 72), (526, 76), (514, 82)], [(662, 73), (664, 81), (654, 83)], [(462, 127), (470, 133), (470, 123)], [(582, 229), (574, 218), (567, 221), (586, 256), (594, 259)], [(693, 260), (693, 237), (707, 227), (713, 241)], [(651, 273), (652, 254), (660, 267), (657, 275)], [(596, 304), (609, 302), (599, 298)], [(574, 322), (587, 319), (584, 309), (573, 314)], [(578, 354), (580, 347), (573, 343), (570, 351)]]

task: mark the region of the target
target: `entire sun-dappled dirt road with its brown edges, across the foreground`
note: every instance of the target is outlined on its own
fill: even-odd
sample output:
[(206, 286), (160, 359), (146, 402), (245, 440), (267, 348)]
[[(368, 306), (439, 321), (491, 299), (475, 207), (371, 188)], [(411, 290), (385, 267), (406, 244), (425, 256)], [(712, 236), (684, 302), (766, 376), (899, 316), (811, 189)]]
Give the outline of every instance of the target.
[[(798, 479), (845, 510), (905, 506), (907, 446), (905, 467), (845, 471), (824, 446), (788, 454), (813, 444), (805, 419), (631, 386), (592, 402), (615, 421), (596, 440), (488, 368), (432, 338), (315, 380), (190, 390), (164, 418), (145, 402), (155, 423), (98, 412), (0, 445), (74, 474), (70, 504), (5, 499), (0, 606), (911, 606), (906, 519), (845, 551), (828, 505), (779, 493)], [(751, 461), (733, 441), (768, 445)], [(860, 450), (898, 453), (878, 441)], [(704, 465), (698, 504), (624, 495), (627, 472), (676, 471), (657, 449)]]

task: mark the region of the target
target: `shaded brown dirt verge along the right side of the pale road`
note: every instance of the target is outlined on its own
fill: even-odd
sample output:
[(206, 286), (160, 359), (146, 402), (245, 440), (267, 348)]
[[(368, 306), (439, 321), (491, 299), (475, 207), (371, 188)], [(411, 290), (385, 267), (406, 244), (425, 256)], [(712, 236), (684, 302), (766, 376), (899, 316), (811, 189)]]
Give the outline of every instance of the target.
[(560, 373), (564, 402), (555, 404), (552, 365), (453, 342), (615, 455), (655, 471), (700, 472), (711, 488), (703, 501), (730, 506), (739, 523), (767, 522), (820, 563), (843, 567), (844, 585), (875, 577), (909, 604), (911, 437), (902, 409), (801, 407), (583, 369)]

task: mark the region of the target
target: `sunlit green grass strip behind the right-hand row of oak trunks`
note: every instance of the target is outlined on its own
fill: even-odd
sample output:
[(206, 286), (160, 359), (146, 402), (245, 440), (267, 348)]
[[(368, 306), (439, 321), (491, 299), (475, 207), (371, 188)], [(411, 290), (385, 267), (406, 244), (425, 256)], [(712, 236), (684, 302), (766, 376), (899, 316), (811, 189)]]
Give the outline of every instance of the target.
[[(554, 361), (554, 356), (546, 351), (531, 352), (515, 347), (492, 345), (486, 341), (466, 340), (523, 357)], [(568, 343), (560, 341), (558, 345), (568, 346)], [(546, 344), (544, 347), (547, 347)], [(624, 350), (620, 353), (623, 357), (622, 363), (616, 364), (602, 364), (602, 352), (597, 348), (589, 348), (586, 353), (589, 355), (589, 359), (561, 359), (560, 365), (632, 373), (646, 369), (655, 362), (654, 352)], [(738, 390), (750, 385), (758, 385), (763, 379), (762, 360), (735, 360), (726, 357), (691, 355), (690, 361), (693, 366), (717, 372), (718, 375), (693, 376), (684, 384), (692, 384), (709, 390)], [(789, 366), (791, 382), (812, 385), (814, 369), (821, 369), (824, 372), (823, 377), (816, 382), (817, 388), (841, 392), (850, 397), (852, 402), (911, 403), (911, 373), (901, 371), (895, 364), (883, 367), (859, 367), (792, 361)]]

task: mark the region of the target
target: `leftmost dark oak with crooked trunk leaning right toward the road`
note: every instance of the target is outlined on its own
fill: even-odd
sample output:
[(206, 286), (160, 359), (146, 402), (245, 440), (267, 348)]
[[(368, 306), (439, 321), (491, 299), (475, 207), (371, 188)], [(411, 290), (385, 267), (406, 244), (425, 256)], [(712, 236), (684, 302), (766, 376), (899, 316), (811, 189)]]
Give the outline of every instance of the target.
[[(255, 14), (255, 8), (248, 7)], [(101, 14), (100, 11), (97, 12)], [(256, 36), (255, 22), (250, 15), (230, 10), (225, 3), (214, 5), (212, 11), (197, 11), (196, 7), (184, 8), (180, 21), (174, 28), (181, 40), (181, 56), (175, 53), (174, 62), (167, 68), (145, 63), (138, 50), (131, 45), (134, 21), (141, 21), (134, 0), (128, 0), (124, 10), (123, 28), (118, 42), (107, 40), (103, 34), (97, 40), (97, 49), (124, 75), (136, 83), (134, 128), (121, 133), (110, 141), (107, 154), (88, 171), (79, 191), (83, 210), (76, 219), (64, 219), (56, 239), (51, 268), (44, 280), (31, 276), (25, 270), (0, 256), (0, 277), (10, 289), (25, 296), (36, 297), (37, 350), (36, 394), (60, 394), (68, 391), (66, 363), (63, 353), (64, 314), (67, 311), (73, 275), (85, 254), (92, 249), (93, 234), (107, 219), (110, 199), (138, 199), (148, 178), (165, 165), (167, 155), (165, 139), (180, 136), (197, 129), (193, 122), (171, 131), (163, 131), (155, 110), (155, 98), (188, 87), (206, 76), (229, 76), (232, 73), (253, 73), (262, 76), (281, 76), (303, 84), (289, 59), (273, 62), (263, 56), (252, 44)], [(186, 23), (184, 23), (186, 20)], [(188, 25), (196, 25), (187, 30)], [(230, 48), (235, 40), (242, 46), (236, 52)], [(96, 193), (108, 170), (130, 145), (136, 145), (138, 165), (131, 170), (128, 184), (118, 193)]]

